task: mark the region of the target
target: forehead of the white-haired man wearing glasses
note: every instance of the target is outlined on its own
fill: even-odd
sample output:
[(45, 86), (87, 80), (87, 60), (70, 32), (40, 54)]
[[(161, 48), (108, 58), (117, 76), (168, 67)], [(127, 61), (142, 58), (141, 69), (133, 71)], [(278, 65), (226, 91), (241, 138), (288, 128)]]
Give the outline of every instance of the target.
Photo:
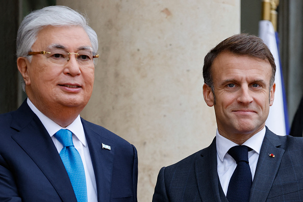
[(72, 51), (92, 46), (87, 33), (80, 26), (47, 26), (38, 32), (32, 50), (41, 51), (53, 44), (62, 45)]

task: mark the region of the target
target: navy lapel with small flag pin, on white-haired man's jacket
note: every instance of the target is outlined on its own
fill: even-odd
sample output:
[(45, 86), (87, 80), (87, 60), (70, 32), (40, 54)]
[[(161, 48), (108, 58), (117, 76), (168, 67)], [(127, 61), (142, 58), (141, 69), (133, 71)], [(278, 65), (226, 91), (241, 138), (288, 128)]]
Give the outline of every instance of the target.
[[(88, 127), (87, 121), (81, 119), (88, 143), (91, 161), (95, 173), (98, 201), (110, 201), (111, 179), (114, 163), (114, 143)], [(111, 149), (102, 148), (102, 143)]]

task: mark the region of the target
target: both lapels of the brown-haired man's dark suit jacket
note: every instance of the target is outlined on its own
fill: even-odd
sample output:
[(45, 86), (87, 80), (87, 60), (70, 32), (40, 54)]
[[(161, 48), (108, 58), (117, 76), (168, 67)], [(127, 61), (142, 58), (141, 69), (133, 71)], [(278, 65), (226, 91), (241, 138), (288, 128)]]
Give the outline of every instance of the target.
[[(223, 193), (217, 172), (216, 138), (201, 151), (201, 158), (195, 162), (196, 180), (202, 201), (228, 201)], [(255, 178), (250, 189), (250, 201), (265, 201), (279, 169), (284, 149), (281, 141), (266, 127)], [(274, 154), (272, 158), (269, 154)]]

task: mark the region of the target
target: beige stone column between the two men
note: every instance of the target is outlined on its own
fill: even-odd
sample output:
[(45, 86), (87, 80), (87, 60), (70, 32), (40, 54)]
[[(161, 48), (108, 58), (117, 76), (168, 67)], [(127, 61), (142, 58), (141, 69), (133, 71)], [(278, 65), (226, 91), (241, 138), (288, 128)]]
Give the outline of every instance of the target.
[(240, 32), (240, 0), (57, 0), (86, 13), (99, 37), (93, 95), (81, 114), (137, 147), (138, 200), (151, 201), (161, 167), (208, 146), (207, 52)]

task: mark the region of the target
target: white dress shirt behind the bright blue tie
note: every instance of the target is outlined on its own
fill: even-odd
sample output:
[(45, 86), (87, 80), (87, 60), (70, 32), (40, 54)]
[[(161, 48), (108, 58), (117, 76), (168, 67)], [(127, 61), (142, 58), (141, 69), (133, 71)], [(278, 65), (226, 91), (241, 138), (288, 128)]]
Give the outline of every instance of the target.
[(85, 138), (85, 133), (83, 129), (83, 125), (80, 119), (80, 115), (66, 128), (62, 128), (60, 125), (55, 123), (53, 120), (46, 117), (44, 114), (42, 114), (31, 102), (31, 100), (28, 98), (27, 103), (29, 107), (32, 109), (32, 111), (38, 116), (42, 124), (44, 125), (46, 131), (52, 137), (52, 140), (58, 150), (58, 153), (61, 152), (61, 149), (63, 148), (63, 145), (57, 138), (54, 136), (55, 133), (57, 133), (60, 129), (68, 129), (72, 132), (72, 142), (74, 147), (78, 150), (83, 166), (85, 171), (85, 177), (86, 177), (86, 186), (87, 186), (87, 199), (88, 202), (94, 202), (97, 201), (97, 189), (96, 189), (96, 179), (94, 170), (92, 167), (92, 162), (89, 154), (88, 145)]

